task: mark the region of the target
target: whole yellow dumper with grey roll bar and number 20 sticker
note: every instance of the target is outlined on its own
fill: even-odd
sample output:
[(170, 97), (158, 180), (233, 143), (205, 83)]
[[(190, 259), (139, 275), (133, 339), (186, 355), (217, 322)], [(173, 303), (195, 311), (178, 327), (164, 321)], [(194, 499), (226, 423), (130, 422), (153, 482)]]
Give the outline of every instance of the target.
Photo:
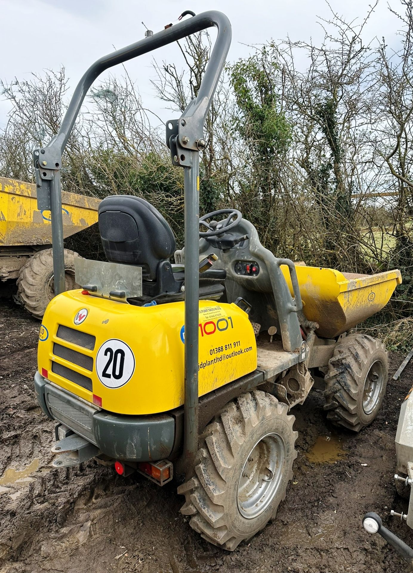
[[(63, 292), (58, 171), (88, 89), (112, 65), (211, 26), (217, 40), (198, 95), (166, 124), (172, 164), (184, 170), (184, 249), (176, 251), (154, 205), (107, 197), (99, 232), (108, 262), (77, 258), (82, 289)], [(54, 468), (95, 457), (121, 476), (136, 470), (161, 486), (175, 475), (190, 526), (234, 551), (254, 543), (286, 495), (295, 498), (292, 507), (300, 504), (287, 493), (298, 436), (290, 410), (313, 387), (324, 390), (337, 426), (358, 432), (379, 413), (386, 347), (349, 329), (386, 304), (400, 274), (294, 265), (266, 249), (233, 207), (198, 219), (203, 126), (230, 42), (224, 14), (185, 11), (173, 26), (99, 58), (58, 134), (33, 151), (42, 195), (58, 205), (58, 295), (42, 320), (34, 387), (45, 416), (57, 422)]]

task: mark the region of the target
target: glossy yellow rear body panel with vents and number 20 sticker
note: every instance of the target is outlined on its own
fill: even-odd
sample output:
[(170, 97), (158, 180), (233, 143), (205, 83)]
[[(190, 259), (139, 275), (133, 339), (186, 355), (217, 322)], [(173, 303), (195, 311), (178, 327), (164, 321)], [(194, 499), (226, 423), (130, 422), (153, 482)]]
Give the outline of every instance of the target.
[[(87, 402), (95, 395), (104, 410), (153, 414), (184, 403), (183, 302), (137, 307), (68, 291), (49, 303), (39, 341), (42, 375)], [(248, 315), (199, 301), (199, 395), (256, 367)]]

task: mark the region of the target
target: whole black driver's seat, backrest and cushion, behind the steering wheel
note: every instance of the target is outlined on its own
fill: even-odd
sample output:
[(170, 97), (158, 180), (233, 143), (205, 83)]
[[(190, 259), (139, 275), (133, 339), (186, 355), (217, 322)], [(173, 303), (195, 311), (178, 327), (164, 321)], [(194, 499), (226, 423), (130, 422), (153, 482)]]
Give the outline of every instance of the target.
[[(143, 303), (148, 299), (183, 300), (184, 271), (174, 272), (170, 263), (176, 249), (174, 233), (159, 211), (140, 197), (112, 195), (100, 203), (98, 214), (108, 261), (142, 268), (143, 297), (139, 298)], [(222, 269), (200, 273), (200, 298), (221, 297), (225, 278)]]

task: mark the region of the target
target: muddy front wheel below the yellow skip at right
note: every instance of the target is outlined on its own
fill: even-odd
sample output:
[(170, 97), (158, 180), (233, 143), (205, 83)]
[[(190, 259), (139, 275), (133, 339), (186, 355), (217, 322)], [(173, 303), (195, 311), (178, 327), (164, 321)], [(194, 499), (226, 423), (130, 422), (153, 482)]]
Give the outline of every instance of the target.
[(386, 347), (376, 338), (351, 334), (337, 344), (325, 376), (327, 418), (360, 431), (379, 413), (388, 379)]

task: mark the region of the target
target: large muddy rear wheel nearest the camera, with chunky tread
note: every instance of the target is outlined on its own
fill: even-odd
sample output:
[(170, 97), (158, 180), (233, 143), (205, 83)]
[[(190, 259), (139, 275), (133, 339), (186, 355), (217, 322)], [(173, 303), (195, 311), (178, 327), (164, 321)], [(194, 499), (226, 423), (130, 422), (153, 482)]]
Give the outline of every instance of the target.
[(178, 488), (192, 529), (234, 551), (265, 527), (293, 477), (294, 419), (258, 390), (225, 406), (200, 436), (194, 475)]

